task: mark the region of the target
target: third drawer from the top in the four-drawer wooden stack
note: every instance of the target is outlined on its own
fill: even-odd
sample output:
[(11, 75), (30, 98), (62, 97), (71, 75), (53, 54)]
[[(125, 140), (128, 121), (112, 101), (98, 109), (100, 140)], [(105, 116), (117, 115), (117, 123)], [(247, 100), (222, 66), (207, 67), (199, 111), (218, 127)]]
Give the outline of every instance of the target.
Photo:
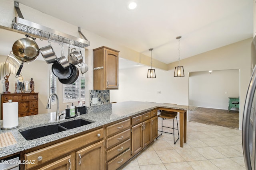
[(116, 147), (114, 147), (110, 150), (107, 150), (107, 152), (106, 152), (107, 161), (116, 157), (118, 154), (124, 152), (128, 148), (130, 148), (130, 139), (128, 139), (127, 141), (117, 145)]

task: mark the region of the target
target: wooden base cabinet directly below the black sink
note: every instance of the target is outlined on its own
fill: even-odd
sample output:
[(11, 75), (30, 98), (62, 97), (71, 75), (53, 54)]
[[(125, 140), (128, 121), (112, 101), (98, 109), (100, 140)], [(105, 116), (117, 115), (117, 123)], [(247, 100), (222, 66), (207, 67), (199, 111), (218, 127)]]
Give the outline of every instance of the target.
[[(73, 167), (72, 169), (79, 168), (80, 166), (79, 162), (81, 161), (83, 162), (83, 164), (81, 162), (81, 166), (83, 167), (84, 167), (84, 164), (87, 164), (87, 165), (90, 164), (88, 163), (88, 160), (86, 160), (88, 158), (90, 158), (90, 161), (97, 162), (97, 166), (99, 164), (100, 167), (102, 167), (102, 165), (104, 167), (103, 137), (104, 137), (104, 130), (103, 128), (100, 128), (100, 129), (96, 129), (94, 131), (85, 133), (83, 135), (68, 139), (66, 141), (62, 141), (60, 143), (56, 143), (54, 145), (50, 145), (42, 149), (25, 153), (24, 160), (33, 161), (34, 164), (25, 164), (24, 169), (38, 170), (39, 168), (47, 169), (46, 167), (51, 167), (51, 166), (58, 167), (59, 169), (63, 169), (64, 167), (68, 167), (68, 163), (69, 163), (68, 161), (69, 158), (67, 159), (66, 155), (71, 155), (70, 162), (71, 162), (71, 166)], [(96, 154), (98, 157), (94, 157), (92, 156), (92, 154)], [(76, 167), (77, 164), (79, 166)], [(95, 166), (91, 168), (86, 167), (86, 169), (89, 169), (89, 170), (94, 169)]]

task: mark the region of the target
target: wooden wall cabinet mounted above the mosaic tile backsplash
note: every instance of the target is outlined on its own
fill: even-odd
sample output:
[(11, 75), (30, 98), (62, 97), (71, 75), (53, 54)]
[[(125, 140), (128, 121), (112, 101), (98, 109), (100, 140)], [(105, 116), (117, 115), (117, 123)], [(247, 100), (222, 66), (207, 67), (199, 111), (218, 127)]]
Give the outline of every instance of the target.
[(118, 89), (118, 53), (108, 47), (94, 49), (94, 90)]

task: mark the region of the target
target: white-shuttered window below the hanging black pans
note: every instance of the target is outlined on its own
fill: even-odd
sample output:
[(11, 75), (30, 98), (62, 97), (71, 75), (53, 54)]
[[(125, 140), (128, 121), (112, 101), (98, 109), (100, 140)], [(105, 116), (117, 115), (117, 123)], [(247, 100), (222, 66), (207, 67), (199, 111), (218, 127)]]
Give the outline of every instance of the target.
[(79, 76), (73, 84), (63, 84), (63, 102), (76, 102), (85, 98), (85, 78)]

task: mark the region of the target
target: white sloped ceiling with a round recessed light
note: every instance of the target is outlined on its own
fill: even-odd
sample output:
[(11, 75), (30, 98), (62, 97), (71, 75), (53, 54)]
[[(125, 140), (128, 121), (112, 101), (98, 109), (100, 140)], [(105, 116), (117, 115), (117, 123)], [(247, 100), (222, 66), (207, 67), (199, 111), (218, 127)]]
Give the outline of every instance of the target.
[(254, 0), (16, 1), (166, 64), (253, 37)]

